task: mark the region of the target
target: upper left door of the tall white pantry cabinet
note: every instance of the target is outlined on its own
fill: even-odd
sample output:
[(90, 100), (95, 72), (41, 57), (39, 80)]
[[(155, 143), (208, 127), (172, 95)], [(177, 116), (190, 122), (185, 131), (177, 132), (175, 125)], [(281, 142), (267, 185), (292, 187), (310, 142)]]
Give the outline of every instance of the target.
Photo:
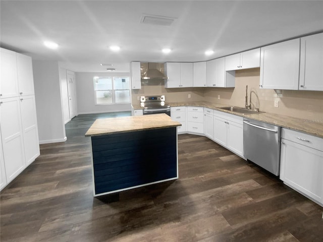
[(18, 96), (16, 52), (1, 48), (0, 98)]

